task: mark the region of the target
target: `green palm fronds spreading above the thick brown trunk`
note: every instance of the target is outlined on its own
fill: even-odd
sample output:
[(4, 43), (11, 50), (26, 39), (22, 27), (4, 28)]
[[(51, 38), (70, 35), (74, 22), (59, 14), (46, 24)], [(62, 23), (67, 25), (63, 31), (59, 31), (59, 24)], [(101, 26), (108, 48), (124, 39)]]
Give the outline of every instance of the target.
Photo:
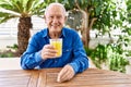
[(0, 23), (14, 17), (41, 15), (46, 3), (39, 0), (0, 0)]

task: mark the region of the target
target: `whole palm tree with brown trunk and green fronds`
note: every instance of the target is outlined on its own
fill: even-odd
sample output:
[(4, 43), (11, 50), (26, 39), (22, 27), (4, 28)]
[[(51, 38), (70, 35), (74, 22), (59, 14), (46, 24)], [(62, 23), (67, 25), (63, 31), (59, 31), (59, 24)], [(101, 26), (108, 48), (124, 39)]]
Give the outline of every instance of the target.
[(17, 17), (17, 52), (20, 55), (26, 50), (31, 37), (29, 29), (33, 15), (44, 14), (47, 4), (39, 0), (0, 0), (0, 23)]

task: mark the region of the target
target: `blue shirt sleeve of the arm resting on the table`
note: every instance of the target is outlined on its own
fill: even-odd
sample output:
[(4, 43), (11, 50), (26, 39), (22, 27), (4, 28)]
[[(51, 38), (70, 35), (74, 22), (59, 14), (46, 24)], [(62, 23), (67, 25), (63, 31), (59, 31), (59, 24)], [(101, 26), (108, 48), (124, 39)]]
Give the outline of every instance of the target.
[(73, 38), (73, 61), (70, 65), (73, 67), (75, 73), (81, 73), (88, 67), (88, 59), (83, 48), (83, 42), (80, 36), (76, 34)]

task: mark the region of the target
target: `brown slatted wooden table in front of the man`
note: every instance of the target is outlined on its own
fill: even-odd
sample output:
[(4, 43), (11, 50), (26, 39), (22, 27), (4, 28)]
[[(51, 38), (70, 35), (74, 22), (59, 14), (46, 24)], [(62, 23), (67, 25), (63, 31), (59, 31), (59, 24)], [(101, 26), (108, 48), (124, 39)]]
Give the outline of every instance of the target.
[(0, 71), (0, 87), (131, 87), (131, 75), (88, 69), (66, 83), (57, 83), (61, 69)]

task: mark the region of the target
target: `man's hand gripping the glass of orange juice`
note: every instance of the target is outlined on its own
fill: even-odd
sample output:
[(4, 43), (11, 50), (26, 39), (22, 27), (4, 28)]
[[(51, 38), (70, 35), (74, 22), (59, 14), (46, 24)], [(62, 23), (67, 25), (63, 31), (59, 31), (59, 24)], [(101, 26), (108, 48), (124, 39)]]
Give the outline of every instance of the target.
[(41, 58), (43, 59), (53, 59), (57, 55), (57, 50), (55, 50), (53, 46), (45, 45), (41, 49)]

